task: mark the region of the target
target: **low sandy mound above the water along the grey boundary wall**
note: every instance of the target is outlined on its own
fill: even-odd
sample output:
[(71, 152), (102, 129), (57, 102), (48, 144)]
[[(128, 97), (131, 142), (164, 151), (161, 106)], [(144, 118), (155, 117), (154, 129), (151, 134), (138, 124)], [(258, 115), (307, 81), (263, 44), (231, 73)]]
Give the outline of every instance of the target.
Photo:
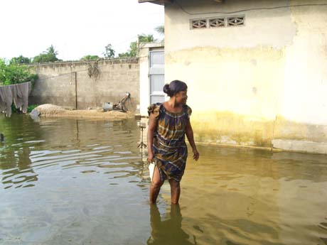
[(54, 104), (42, 104), (34, 110), (40, 113), (39, 116), (45, 117), (75, 117), (92, 119), (127, 119), (134, 117), (130, 111), (103, 111), (102, 109), (71, 110), (58, 107)]

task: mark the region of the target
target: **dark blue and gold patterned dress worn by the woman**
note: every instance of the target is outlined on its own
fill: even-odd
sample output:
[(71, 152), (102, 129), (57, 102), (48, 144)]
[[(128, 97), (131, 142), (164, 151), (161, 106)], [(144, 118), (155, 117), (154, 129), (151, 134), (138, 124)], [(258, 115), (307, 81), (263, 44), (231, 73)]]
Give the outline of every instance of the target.
[[(156, 116), (156, 130), (152, 149), (161, 181), (166, 179), (181, 181), (188, 157), (185, 143), (186, 124), (192, 114), (187, 105), (181, 112), (166, 111), (163, 104), (151, 104), (148, 113)], [(149, 146), (150, 147), (150, 146)]]

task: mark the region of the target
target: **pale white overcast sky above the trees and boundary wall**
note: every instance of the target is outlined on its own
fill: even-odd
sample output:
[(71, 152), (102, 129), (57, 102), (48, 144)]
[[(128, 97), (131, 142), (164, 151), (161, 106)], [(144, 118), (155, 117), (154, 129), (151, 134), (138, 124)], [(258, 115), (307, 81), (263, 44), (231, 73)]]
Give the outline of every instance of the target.
[(111, 43), (116, 55), (126, 52), (141, 33), (164, 25), (164, 6), (137, 0), (4, 0), (0, 1), (0, 58), (28, 58), (50, 45), (62, 60), (85, 55), (103, 57)]

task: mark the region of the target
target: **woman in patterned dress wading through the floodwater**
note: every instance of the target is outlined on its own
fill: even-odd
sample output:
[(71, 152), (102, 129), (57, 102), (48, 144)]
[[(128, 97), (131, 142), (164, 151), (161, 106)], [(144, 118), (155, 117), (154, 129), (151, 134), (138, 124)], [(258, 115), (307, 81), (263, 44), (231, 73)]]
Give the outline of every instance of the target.
[(185, 82), (175, 80), (164, 86), (164, 92), (170, 97), (168, 102), (152, 104), (148, 108), (148, 163), (156, 164), (150, 186), (151, 204), (156, 203), (164, 180), (171, 185), (171, 203), (178, 203), (179, 183), (188, 157), (185, 134), (193, 150), (193, 159), (199, 158), (190, 123), (192, 110), (186, 105), (187, 89)]

